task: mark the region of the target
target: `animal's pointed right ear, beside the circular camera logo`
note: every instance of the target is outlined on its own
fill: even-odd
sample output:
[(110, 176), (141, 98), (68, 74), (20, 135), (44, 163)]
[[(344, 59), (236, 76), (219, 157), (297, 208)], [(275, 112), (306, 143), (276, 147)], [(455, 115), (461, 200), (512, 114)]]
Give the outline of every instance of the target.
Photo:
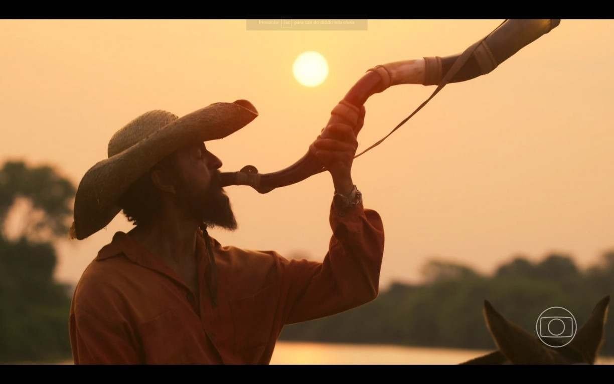
[(604, 340), (604, 327), (608, 316), (609, 304), (610, 296), (605, 296), (601, 299), (593, 309), (591, 317), (578, 329), (573, 341), (570, 343), (591, 364), (595, 362), (599, 348)]

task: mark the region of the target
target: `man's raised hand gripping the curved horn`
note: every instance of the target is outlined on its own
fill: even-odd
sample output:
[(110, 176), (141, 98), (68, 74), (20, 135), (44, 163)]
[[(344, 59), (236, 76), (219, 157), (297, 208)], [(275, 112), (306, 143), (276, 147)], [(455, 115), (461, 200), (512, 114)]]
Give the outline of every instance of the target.
[(351, 170), (354, 155), (358, 148), (355, 131), (365, 122), (365, 107), (360, 108), (356, 127), (346, 123), (332, 123), (317, 136), (309, 151), (316, 155), (322, 165), (330, 172), (335, 185), (335, 193), (347, 195), (352, 191)]

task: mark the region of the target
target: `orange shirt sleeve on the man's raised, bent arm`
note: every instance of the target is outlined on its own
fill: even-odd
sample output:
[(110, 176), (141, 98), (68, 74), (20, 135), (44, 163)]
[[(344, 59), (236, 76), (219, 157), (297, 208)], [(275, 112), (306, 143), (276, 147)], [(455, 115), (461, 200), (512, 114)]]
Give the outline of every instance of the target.
[(362, 202), (343, 215), (331, 204), (333, 235), (324, 261), (287, 260), (282, 270), (284, 324), (344, 312), (374, 300), (384, 254), (384, 228), (376, 211)]

